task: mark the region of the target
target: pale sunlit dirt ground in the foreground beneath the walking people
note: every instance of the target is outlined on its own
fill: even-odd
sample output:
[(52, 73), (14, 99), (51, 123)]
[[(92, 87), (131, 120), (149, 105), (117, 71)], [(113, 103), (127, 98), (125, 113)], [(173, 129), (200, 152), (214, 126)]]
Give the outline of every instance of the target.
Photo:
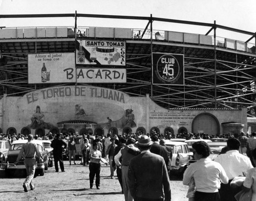
[[(116, 177), (110, 179), (110, 168), (101, 165), (100, 190), (95, 185), (90, 189), (89, 166), (69, 165), (64, 161), (65, 172), (55, 172), (55, 168), (49, 168), (44, 176), (34, 178), (35, 190), (24, 192), (22, 187), (26, 178), (25, 172), (14, 172), (7, 178), (4, 170), (0, 170), (0, 200), (106, 200), (121, 201), (121, 187)], [(170, 180), (172, 189), (172, 201), (185, 201), (187, 187), (182, 185), (179, 178)]]

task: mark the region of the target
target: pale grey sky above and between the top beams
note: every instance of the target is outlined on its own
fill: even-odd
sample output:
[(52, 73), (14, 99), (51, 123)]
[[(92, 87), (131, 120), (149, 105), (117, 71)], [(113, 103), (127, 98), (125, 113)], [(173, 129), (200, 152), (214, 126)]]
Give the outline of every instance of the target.
[[(256, 32), (256, 0), (0, 0), (0, 15), (82, 13), (146, 16), (214, 23)], [(147, 21), (80, 17), (77, 26), (145, 28)], [(74, 27), (74, 18), (0, 19), (0, 27)], [(209, 28), (153, 22), (154, 30), (205, 34)], [(213, 32), (210, 33), (213, 35)], [(217, 35), (246, 41), (248, 35), (217, 30)], [(254, 40), (250, 41), (254, 42)]]

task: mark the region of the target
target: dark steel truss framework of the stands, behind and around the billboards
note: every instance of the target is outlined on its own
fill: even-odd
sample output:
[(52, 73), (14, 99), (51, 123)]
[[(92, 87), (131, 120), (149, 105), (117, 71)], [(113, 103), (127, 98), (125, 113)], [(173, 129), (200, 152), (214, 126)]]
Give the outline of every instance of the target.
[[(112, 88), (131, 96), (150, 97), (166, 109), (195, 108), (247, 108), (248, 116), (255, 116), (255, 53), (246, 53), (216, 45), (216, 30), (225, 29), (251, 36), (255, 33), (223, 27), (216, 23), (200, 23), (154, 17), (87, 15), (87, 14), (45, 14), (45, 15), (0, 15), (0, 18), (22, 17), (102, 17), (119, 19), (148, 20), (151, 39), (125, 39), (126, 72), (125, 84), (93, 84)], [(208, 35), (214, 31), (214, 45), (174, 43), (153, 39), (153, 21), (194, 24), (209, 27)], [(143, 34), (145, 31), (143, 32)], [(142, 36), (143, 36), (142, 34)], [(94, 38), (95, 39), (95, 38)], [(102, 40), (102, 38), (100, 38)], [(108, 38), (108, 40), (111, 40)], [(114, 39), (113, 39), (114, 40)], [(73, 38), (3, 39), (0, 40), (0, 98), (21, 96), (35, 89), (59, 84), (28, 84), (28, 54), (74, 52), (76, 36)], [(152, 53), (184, 55), (184, 86), (154, 85), (152, 83)], [(77, 65), (77, 68), (84, 67)], [(62, 85), (66, 85), (63, 83)], [(86, 85), (74, 83), (74, 85)]]

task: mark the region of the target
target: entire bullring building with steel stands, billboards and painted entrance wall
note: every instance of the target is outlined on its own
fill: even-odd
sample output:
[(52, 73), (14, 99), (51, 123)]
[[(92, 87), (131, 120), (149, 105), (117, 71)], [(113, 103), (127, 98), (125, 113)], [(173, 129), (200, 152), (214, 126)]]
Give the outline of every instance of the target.
[[(2, 133), (255, 131), (253, 32), (152, 15), (0, 17), (74, 18), (73, 27), (0, 29)], [(83, 27), (77, 17), (143, 20), (145, 27)], [(207, 32), (155, 30), (156, 21)], [(222, 30), (248, 40), (223, 38)]]

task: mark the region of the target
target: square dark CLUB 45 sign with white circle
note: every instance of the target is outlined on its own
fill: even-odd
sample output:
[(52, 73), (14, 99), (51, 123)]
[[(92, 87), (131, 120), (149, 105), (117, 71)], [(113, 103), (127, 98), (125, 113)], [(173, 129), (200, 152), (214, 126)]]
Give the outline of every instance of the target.
[(153, 84), (184, 85), (184, 56), (153, 53)]

